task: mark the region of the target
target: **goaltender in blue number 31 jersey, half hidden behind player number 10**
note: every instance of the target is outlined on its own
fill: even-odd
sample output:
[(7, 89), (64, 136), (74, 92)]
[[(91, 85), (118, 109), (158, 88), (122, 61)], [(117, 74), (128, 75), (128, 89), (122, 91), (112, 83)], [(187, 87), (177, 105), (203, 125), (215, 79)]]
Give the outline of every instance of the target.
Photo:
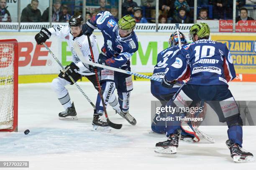
[[(187, 43), (187, 40), (183, 33), (179, 32), (180, 40), (182, 45)], [(179, 40), (177, 31), (172, 33), (169, 38), (169, 47), (161, 51), (157, 55), (157, 64), (154, 67), (153, 77), (158, 79), (163, 79), (164, 75), (167, 71), (169, 71), (171, 58), (179, 51)], [(171, 63), (172, 64), (172, 63)], [(183, 84), (183, 81), (178, 81), (179, 84)], [(168, 88), (161, 85), (159, 81), (151, 80), (151, 94), (153, 94), (156, 99), (159, 99), (162, 107), (164, 107), (167, 102), (172, 99), (174, 94), (178, 91), (180, 86), (174, 85), (173, 88)], [(151, 129), (155, 133), (166, 133), (165, 131), (165, 121), (159, 121), (159, 117), (166, 117), (165, 112), (161, 112), (160, 114), (155, 114), (153, 122), (151, 124)], [(157, 118), (158, 117), (158, 118)], [(188, 129), (186, 129), (187, 131)], [(184, 141), (199, 141), (199, 137), (195, 134), (195, 132), (189, 128), (189, 133), (186, 133), (182, 129), (181, 140)], [(195, 138), (195, 140), (194, 140)]]

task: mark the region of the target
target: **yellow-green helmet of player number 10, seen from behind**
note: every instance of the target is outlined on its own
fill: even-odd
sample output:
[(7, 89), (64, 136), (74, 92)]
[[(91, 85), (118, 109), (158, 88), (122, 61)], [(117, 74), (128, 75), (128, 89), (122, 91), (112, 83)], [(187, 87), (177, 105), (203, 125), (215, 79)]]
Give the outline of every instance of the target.
[(199, 39), (208, 39), (210, 36), (210, 28), (207, 25), (207, 23), (196, 23), (192, 25), (192, 27), (189, 30), (189, 39), (193, 40), (195, 34), (197, 34)]

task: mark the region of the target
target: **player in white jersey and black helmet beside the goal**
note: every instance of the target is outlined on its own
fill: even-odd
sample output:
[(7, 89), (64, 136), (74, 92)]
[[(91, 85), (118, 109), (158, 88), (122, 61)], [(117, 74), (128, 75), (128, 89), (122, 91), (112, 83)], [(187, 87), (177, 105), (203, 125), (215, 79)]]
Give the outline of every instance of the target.
[[(40, 33), (36, 34), (35, 39), (38, 44), (42, 44), (46, 42), (47, 39), (51, 37), (51, 35), (55, 35), (58, 38), (64, 39), (67, 41), (68, 46), (72, 52), (72, 63), (70, 63), (68, 66), (65, 67), (67, 72), (61, 70), (59, 76), (55, 78), (52, 83), (52, 89), (56, 92), (58, 99), (62, 106), (64, 107), (65, 111), (59, 113), (59, 119), (64, 120), (72, 120), (77, 119), (77, 112), (74, 107), (74, 102), (71, 103), (69, 93), (65, 86), (68, 84), (73, 84), (71, 79), (69, 79), (69, 75), (72, 76), (74, 81), (78, 81), (81, 79), (81, 76), (85, 76), (87, 79), (89, 79), (92, 84), (94, 85), (95, 89), (98, 90), (97, 82), (95, 73), (91, 72), (88, 68), (88, 65), (84, 65), (82, 61), (79, 60), (77, 54), (74, 51), (73, 48), (73, 42), (77, 41), (79, 45), (81, 46), (82, 53), (84, 57), (92, 61), (89, 43), (87, 40), (87, 36), (84, 36), (82, 34), (82, 24), (84, 20), (81, 15), (73, 15), (72, 18), (69, 20), (69, 25), (62, 26), (57, 25), (56, 27), (52, 27), (49, 29), (42, 28)], [(97, 41), (96, 37), (92, 34), (90, 36), (90, 40), (92, 43), (92, 50), (95, 54), (95, 58), (98, 58), (99, 52), (97, 49)], [(113, 96), (115, 100), (115, 96)], [(108, 126), (107, 122), (105, 121), (104, 117), (100, 117), (99, 114), (97, 114), (96, 110), (94, 110), (93, 115), (93, 130), (110, 130), (110, 127)]]

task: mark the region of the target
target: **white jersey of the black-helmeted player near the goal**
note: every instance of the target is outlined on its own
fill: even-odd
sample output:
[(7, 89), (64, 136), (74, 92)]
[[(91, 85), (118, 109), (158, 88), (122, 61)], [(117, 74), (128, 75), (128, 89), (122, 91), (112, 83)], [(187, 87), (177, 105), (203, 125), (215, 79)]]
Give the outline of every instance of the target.
[[(77, 41), (81, 47), (81, 51), (84, 57), (87, 60), (92, 61), (92, 56), (91, 56), (87, 36), (81, 35), (79, 37), (74, 38), (74, 36), (70, 33), (69, 25), (66, 25), (66, 26), (57, 25), (56, 27), (49, 28), (48, 30), (51, 32), (51, 35), (55, 35), (67, 41), (68, 46), (72, 52), (72, 61), (76, 64), (76, 66), (79, 67), (79, 71), (78, 71), (79, 74), (82, 74), (85, 76), (90, 76), (94, 74), (88, 69), (89, 68), (88, 65), (82, 63), (82, 61), (79, 60), (77, 53), (74, 51), (74, 48), (73, 48), (74, 41)], [(95, 35), (92, 34), (90, 36), (90, 40), (92, 44), (93, 56), (95, 61), (97, 62), (99, 58), (99, 51), (97, 49), (97, 40)]]

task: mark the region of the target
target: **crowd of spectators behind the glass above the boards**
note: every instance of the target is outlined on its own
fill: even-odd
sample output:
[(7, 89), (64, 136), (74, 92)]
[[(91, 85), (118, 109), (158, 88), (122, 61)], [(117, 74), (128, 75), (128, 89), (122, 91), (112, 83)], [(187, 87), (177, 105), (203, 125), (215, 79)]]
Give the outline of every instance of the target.
[[(132, 15), (137, 23), (155, 23), (156, 0), (136, 1), (138, 3), (141, 1), (140, 6), (133, 0), (123, 0), (121, 15)], [(54, 0), (53, 2), (52, 22), (68, 22), (71, 15), (75, 13), (82, 14), (82, 10), (71, 11), (68, 5), (61, 3), (61, 0)], [(86, 11), (86, 20), (103, 10), (110, 11), (115, 18), (118, 18), (118, 0), (116, 0), (115, 5), (112, 5), (113, 0), (98, 0), (97, 2), (98, 8)], [(43, 0), (40, 0), (40, 3), (43, 3)], [(239, 20), (253, 20), (248, 16), (248, 10), (243, 7), (248, 3), (256, 5), (256, 0), (236, 0), (236, 22)], [(39, 0), (31, 0), (31, 3), (22, 9), (20, 21), (49, 22), (49, 7), (41, 13), (38, 4)], [(159, 0), (158, 21), (159, 23), (193, 23), (193, 7), (194, 0)], [(197, 0), (197, 7), (199, 10), (197, 20), (233, 18), (233, 0)], [(0, 0), (0, 22), (12, 22), (7, 8), (7, 0)], [(211, 10), (211, 18), (209, 17), (209, 9)]]

